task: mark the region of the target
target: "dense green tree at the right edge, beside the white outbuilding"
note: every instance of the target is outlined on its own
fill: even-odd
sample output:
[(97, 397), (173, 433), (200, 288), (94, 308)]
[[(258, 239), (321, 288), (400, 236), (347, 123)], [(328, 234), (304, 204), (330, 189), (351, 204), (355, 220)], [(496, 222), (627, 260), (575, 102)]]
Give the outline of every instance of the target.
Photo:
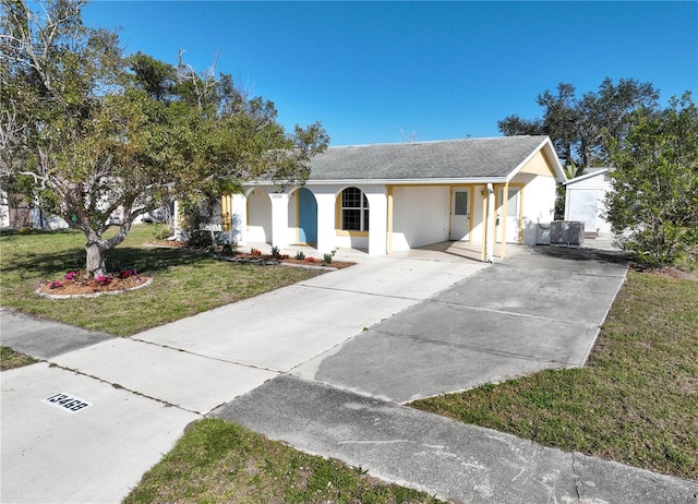
[(639, 261), (663, 266), (698, 256), (698, 108), (690, 94), (635, 112), (607, 148), (614, 169), (607, 219)]

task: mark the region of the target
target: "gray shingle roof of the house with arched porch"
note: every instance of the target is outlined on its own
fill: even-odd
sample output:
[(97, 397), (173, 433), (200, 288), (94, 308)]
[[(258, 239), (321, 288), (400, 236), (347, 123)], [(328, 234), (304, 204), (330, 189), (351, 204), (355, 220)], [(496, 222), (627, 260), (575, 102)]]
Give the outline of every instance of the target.
[(309, 180), (472, 179), (508, 176), (545, 136), (502, 136), (329, 147)]

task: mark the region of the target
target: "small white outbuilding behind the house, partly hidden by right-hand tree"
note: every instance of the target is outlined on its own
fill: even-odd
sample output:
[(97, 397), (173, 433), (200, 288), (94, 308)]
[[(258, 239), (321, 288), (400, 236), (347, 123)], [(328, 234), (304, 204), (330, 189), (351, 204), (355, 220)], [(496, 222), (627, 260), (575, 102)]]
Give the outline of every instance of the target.
[(611, 223), (604, 218), (604, 200), (613, 189), (609, 168), (591, 168), (580, 177), (565, 182), (565, 220), (585, 223), (587, 233), (599, 237), (613, 235)]

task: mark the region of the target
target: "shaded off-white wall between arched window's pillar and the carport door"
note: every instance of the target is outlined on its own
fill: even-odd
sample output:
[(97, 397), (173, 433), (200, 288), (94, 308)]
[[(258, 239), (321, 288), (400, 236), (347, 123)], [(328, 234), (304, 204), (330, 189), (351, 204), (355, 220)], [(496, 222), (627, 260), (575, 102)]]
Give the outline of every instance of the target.
[(450, 187), (393, 188), (393, 250), (448, 240)]

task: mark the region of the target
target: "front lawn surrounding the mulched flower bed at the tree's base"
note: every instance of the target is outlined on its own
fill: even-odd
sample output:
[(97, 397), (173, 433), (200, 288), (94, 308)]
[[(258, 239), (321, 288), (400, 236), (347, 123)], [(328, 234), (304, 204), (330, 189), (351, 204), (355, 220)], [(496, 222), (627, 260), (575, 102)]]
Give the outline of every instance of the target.
[(79, 231), (29, 231), (0, 236), (0, 302), (24, 313), (116, 336), (290, 285), (317, 272), (218, 261), (184, 249), (147, 248), (153, 226), (134, 226), (127, 240), (108, 253), (107, 268), (135, 268), (152, 276), (144, 289), (118, 296), (53, 300), (34, 291), (85, 263), (85, 238)]

